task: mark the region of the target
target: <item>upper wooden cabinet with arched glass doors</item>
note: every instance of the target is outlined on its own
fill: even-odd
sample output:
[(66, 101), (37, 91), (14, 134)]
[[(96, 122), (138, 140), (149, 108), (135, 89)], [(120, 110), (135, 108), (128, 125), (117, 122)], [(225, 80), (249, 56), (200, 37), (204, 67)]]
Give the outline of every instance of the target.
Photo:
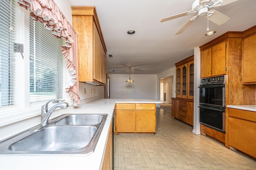
[(194, 98), (194, 55), (176, 65), (176, 97)]

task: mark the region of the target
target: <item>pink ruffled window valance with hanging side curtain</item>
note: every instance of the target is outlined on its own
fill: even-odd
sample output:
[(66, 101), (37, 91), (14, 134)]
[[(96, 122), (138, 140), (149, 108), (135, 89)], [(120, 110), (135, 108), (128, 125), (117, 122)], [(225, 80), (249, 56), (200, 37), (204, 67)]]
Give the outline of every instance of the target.
[(74, 100), (74, 106), (80, 104), (78, 68), (76, 68), (78, 66), (78, 35), (76, 31), (54, 0), (17, 0), (17, 2), (26, 10), (31, 9), (30, 15), (34, 20), (44, 23), (45, 28), (50, 29), (54, 37), (66, 40), (65, 45), (61, 47), (69, 70), (66, 92)]

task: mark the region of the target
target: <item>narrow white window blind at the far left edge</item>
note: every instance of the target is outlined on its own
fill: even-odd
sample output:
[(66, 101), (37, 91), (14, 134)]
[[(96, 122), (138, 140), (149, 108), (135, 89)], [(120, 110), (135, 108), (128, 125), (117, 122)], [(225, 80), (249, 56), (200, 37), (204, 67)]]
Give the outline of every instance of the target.
[(16, 0), (0, 3), (0, 107), (14, 105), (16, 3)]

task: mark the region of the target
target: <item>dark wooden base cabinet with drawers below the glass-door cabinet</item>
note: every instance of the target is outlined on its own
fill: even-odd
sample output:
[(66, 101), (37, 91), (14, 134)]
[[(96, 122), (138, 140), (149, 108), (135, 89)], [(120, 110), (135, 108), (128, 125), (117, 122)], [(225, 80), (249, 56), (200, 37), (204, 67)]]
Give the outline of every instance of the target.
[(172, 98), (172, 117), (194, 125), (194, 102), (189, 99)]

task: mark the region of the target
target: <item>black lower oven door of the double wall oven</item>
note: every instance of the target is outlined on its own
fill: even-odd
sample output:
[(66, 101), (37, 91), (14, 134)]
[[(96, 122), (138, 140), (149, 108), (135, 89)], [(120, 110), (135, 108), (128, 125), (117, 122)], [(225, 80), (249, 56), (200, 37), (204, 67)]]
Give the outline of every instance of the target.
[(200, 105), (200, 123), (225, 133), (225, 107)]

